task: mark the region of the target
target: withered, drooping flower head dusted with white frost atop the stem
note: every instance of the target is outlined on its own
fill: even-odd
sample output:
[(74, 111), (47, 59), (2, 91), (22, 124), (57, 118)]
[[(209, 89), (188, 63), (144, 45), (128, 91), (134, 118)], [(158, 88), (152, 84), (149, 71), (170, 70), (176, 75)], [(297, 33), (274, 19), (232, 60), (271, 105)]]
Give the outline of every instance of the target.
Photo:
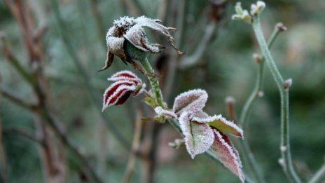
[(170, 31), (177, 29), (165, 27), (160, 23), (160, 20), (153, 20), (145, 16), (138, 18), (129, 18), (125, 16), (119, 20), (115, 20), (113, 22), (113, 27), (109, 28), (106, 34), (106, 44), (108, 47), (107, 58), (105, 66), (99, 71), (103, 71), (111, 66), (114, 55), (120, 57), (125, 64), (130, 63), (135, 69), (142, 71), (141, 67), (134, 62), (134, 60), (137, 60), (137, 57), (132, 57), (132, 54), (127, 53), (125, 50), (125, 46), (127, 46), (128, 42), (144, 53), (160, 53), (160, 51), (165, 50), (165, 46), (158, 43), (149, 43), (143, 27), (151, 28), (167, 36), (170, 45), (175, 48), (180, 55), (183, 54), (174, 46), (174, 38), (170, 34)]

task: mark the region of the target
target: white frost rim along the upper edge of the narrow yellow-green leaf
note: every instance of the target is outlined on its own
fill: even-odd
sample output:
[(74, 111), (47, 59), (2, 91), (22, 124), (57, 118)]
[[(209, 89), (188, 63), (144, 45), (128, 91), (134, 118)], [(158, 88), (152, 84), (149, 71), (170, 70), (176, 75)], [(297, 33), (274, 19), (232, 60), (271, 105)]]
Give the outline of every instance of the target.
[[(244, 132), (241, 128), (239, 128), (233, 121), (228, 121), (226, 118), (223, 118), (221, 114), (214, 116), (207, 116), (205, 118), (200, 118), (200, 116), (194, 116), (192, 121), (197, 121), (198, 123), (212, 123), (212, 122), (220, 122), (223, 125), (233, 128), (233, 130), (237, 131), (242, 138), (244, 138)], [(219, 129), (218, 129), (219, 130)], [(222, 131), (222, 129), (220, 129)]]

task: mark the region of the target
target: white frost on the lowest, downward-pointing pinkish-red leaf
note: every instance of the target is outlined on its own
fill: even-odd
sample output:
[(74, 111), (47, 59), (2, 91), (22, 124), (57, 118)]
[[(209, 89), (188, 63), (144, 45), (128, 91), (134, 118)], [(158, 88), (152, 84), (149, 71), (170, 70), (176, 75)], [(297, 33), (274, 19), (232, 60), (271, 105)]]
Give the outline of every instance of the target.
[[(245, 177), (244, 177), (244, 174), (242, 173), (242, 164), (241, 164), (239, 156), (237, 156), (237, 153), (235, 152), (235, 149), (233, 147), (231, 147), (230, 144), (228, 144), (223, 139), (222, 135), (217, 130), (214, 130), (214, 134), (216, 135), (215, 137), (221, 142), (222, 146), (226, 147), (228, 153), (233, 158), (233, 162), (225, 162), (225, 159), (221, 157), (221, 156), (224, 156), (224, 154), (217, 154), (219, 156), (219, 158), (221, 159), (221, 163), (223, 163), (223, 165), (225, 165), (227, 168), (229, 168), (229, 170), (234, 172), (235, 175), (237, 175), (240, 178), (240, 180), (242, 182), (244, 182)], [(233, 170), (232, 167), (230, 167), (230, 165), (233, 165), (233, 163), (235, 163), (235, 170)]]

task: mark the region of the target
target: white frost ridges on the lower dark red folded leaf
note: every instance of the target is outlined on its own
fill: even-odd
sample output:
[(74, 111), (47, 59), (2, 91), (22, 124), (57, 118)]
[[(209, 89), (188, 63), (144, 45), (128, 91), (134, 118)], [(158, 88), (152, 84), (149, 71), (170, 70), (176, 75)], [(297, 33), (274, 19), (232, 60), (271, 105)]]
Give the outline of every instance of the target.
[[(123, 85), (123, 83), (124, 83), (124, 85)], [(130, 84), (130, 86), (128, 86), (126, 84)], [(105, 101), (106, 93), (108, 93), (109, 90), (112, 90), (112, 88), (114, 88), (116, 85), (120, 85), (120, 86), (118, 86), (118, 88), (116, 88), (116, 90), (114, 91), (114, 93), (109, 96), (109, 98), (107, 99), (107, 101)], [(118, 81), (116, 83), (113, 83), (104, 92), (104, 99), (103, 99), (103, 108), (102, 108), (102, 111), (104, 111), (104, 109), (106, 109), (107, 107), (109, 107), (109, 106), (111, 106), (113, 104), (116, 104), (116, 102), (120, 99), (120, 97), (125, 94), (125, 92), (130, 91), (130, 90), (134, 91), (135, 89), (136, 89), (136, 87), (134, 86), (134, 83), (133, 82), (130, 82), (130, 81)], [(115, 102), (110, 103), (110, 100), (113, 97), (115, 97), (120, 92), (120, 90), (125, 90), (125, 92), (121, 93), (120, 96), (117, 98), (117, 100)]]

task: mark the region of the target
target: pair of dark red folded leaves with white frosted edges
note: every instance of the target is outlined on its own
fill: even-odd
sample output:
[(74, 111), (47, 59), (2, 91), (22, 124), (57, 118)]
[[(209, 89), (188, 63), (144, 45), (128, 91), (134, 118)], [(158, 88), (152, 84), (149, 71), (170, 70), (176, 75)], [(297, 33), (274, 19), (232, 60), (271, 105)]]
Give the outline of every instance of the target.
[(142, 83), (135, 74), (129, 71), (121, 71), (113, 74), (109, 81), (116, 81), (104, 92), (103, 109), (111, 105), (124, 104), (130, 95), (137, 96), (144, 91), (146, 84)]

